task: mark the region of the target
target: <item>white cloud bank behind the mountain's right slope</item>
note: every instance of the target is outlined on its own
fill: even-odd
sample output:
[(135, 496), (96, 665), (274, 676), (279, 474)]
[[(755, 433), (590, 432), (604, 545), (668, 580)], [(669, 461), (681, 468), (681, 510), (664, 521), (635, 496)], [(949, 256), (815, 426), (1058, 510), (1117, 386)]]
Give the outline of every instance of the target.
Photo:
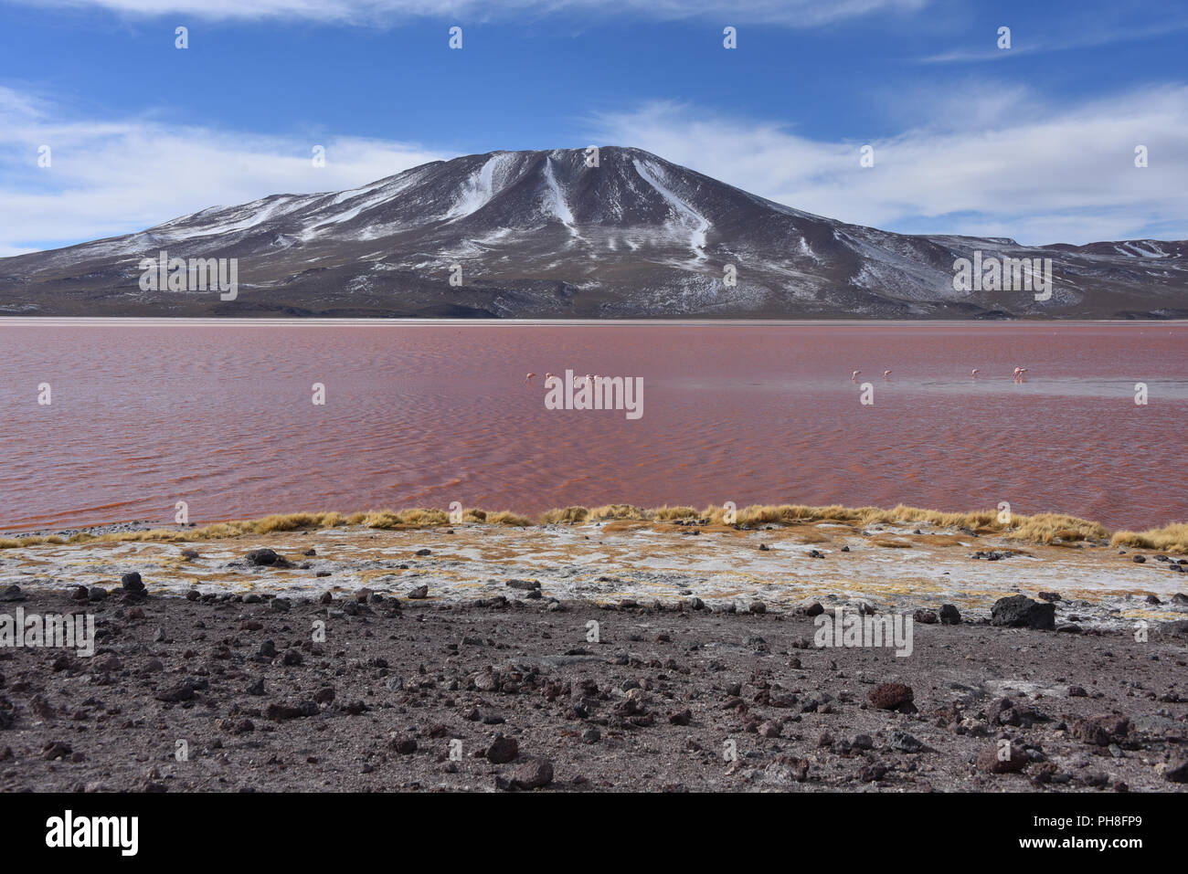
[[(664, 102), (602, 115), (594, 134), (855, 224), (1028, 243), (1188, 238), (1188, 87), (1069, 107), (984, 83), (904, 102), (930, 122), (872, 140), (815, 140)], [(870, 169), (859, 165), (867, 144)]]

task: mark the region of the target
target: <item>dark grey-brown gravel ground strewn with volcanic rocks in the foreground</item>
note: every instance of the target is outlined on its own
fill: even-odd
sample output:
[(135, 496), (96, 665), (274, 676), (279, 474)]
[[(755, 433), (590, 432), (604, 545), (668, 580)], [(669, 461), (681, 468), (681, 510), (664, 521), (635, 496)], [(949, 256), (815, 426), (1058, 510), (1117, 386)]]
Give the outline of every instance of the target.
[(0, 614), (86, 610), (99, 642), (89, 658), (0, 648), (0, 790), (1060, 792), (1188, 780), (1182, 625), (1137, 641), (917, 621), (901, 658), (819, 648), (810, 616), (765, 604), (599, 606), (519, 585), (469, 603), (366, 590), (189, 600), (134, 582), (88, 602), (84, 589), (10, 588)]

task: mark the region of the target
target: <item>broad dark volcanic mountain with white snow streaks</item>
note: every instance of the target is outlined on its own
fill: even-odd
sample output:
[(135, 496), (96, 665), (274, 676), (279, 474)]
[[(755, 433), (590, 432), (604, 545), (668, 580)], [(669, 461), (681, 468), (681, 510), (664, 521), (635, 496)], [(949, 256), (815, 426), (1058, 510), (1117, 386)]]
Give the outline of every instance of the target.
[[(892, 234), (638, 148), (491, 152), (350, 191), (272, 195), (0, 259), (0, 315), (475, 318), (1183, 318), (1188, 242), (1028, 247)], [(145, 291), (141, 259), (238, 259), (238, 297)], [(954, 264), (1051, 259), (1050, 298)], [(1043, 261), (1038, 262), (1040, 265)], [(461, 284), (451, 285), (453, 265)], [(734, 265), (737, 283), (723, 281)]]

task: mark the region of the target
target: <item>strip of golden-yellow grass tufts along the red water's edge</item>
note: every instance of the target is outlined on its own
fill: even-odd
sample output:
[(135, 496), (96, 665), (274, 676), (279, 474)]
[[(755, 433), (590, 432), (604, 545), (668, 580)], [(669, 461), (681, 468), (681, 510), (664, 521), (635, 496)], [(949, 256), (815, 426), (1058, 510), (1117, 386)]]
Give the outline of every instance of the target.
[[(1056, 540), (1063, 543), (1086, 539), (1105, 540), (1111, 536), (1111, 532), (1098, 522), (1056, 513), (1040, 513), (1031, 517), (1015, 515), (1011, 518), (1010, 525), (1004, 525), (999, 522), (998, 512), (993, 509), (974, 511), (971, 513), (944, 513), (904, 505), (890, 509), (880, 507), (842, 507), (841, 505), (752, 505), (735, 511), (729, 521), (727, 521), (726, 509), (722, 507), (706, 507), (699, 512), (694, 507), (688, 506), (664, 506), (646, 509), (630, 504), (609, 504), (594, 507), (593, 509), (581, 506), (550, 509), (536, 520), (506, 509), (491, 512), (469, 508), (462, 512), (462, 520), (467, 522), (516, 527), (525, 527), (533, 524), (576, 524), (594, 520), (671, 521), (696, 518), (706, 518), (710, 525), (735, 524), (747, 527), (763, 525), (808, 525), (826, 521), (848, 524), (859, 528), (871, 525), (899, 524), (916, 526), (927, 524), (940, 528), (966, 527), (979, 533), (1001, 534), (1015, 540), (1043, 544), (1050, 544)], [(89, 543), (93, 540), (105, 543), (184, 543), (188, 540), (214, 540), (239, 537), (241, 534), (270, 534), (283, 531), (335, 528), (348, 525), (377, 530), (415, 530), (446, 527), (450, 524), (450, 515), (446, 511), (421, 507), (400, 511), (372, 509), (350, 514), (335, 512), (284, 513), (266, 515), (261, 519), (233, 519), (203, 527), (177, 531), (153, 528), (151, 531), (99, 536), (77, 533), (71, 534), (67, 539), (56, 534), (48, 537), (7, 537), (0, 538), (0, 549), (17, 549), (39, 544)], [(1188, 552), (1188, 524), (1167, 525), (1162, 528), (1144, 532), (1119, 531), (1113, 534), (1111, 543), (1116, 546)]]

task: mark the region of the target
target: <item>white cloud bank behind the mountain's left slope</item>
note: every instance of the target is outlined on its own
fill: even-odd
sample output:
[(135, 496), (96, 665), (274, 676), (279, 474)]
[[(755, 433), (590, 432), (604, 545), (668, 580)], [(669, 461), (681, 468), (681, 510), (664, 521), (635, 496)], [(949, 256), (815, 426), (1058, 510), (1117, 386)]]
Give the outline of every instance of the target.
[[(265, 137), (152, 119), (57, 118), (0, 87), (0, 255), (141, 230), (270, 194), (364, 185), (444, 156), (360, 137)], [(38, 148), (50, 147), (50, 167)], [(311, 160), (326, 147), (326, 166)]]

